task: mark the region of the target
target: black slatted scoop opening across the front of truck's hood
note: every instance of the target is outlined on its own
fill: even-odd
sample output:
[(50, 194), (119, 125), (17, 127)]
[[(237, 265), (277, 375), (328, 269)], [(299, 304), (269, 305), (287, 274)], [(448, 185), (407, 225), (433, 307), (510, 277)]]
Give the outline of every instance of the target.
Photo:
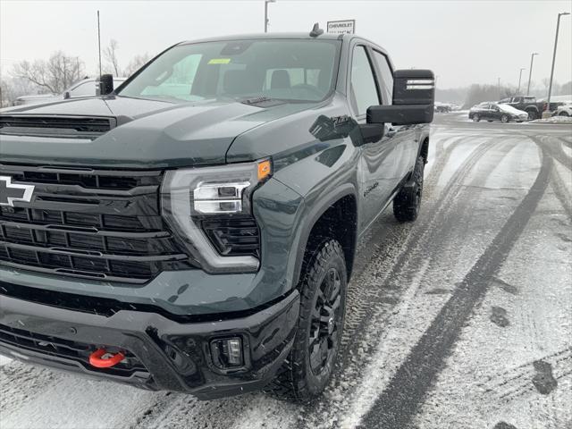
[(96, 139), (114, 127), (114, 118), (101, 116), (0, 115), (0, 133), (59, 138)]

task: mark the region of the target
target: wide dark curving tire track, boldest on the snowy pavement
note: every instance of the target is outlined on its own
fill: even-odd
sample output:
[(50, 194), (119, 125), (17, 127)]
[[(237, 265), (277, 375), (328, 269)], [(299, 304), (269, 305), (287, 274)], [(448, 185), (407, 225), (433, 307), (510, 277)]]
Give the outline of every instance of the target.
[[(543, 147), (541, 147), (543, 149)], [(360, 427), (408, 427), (442, 371), (446, 357), (458, 340), (463, 325), (483, 299), (492, 278), (508, 257), (510, 249), (524, 231), (548, 187), (552, 159), (543, 152), (540, 172), (526, 197), (517, 206), (492, 243), (458, 285), (453, 295), (433, 319), (407, 359), (391, 378), (374, 406), (362, 418)]]

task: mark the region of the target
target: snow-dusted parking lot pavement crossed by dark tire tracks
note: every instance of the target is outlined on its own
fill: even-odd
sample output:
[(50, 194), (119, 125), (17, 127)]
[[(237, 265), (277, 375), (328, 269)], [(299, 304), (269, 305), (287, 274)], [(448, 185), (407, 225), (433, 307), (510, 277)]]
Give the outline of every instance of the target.
[(0, 428), (572, 428), (571, 125), (436, 115), (419, 219), (387, 210), (361, 246), (316, 403), (200, 402), (0, 357)]

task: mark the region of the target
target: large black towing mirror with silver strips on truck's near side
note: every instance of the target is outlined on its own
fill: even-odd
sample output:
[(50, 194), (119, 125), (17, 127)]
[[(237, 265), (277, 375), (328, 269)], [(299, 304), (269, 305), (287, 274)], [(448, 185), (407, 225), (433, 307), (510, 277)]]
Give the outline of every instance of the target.
[(397, 70), (393, 73), (393, 104), (372, 105), (367, 123), (413, 125), (433, 122), (435, 78), (430, 70)]

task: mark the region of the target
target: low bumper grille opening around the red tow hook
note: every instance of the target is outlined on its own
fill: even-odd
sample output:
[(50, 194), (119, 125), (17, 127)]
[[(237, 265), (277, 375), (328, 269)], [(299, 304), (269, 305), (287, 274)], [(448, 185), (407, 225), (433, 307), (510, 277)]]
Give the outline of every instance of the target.
[[(127, 377), (136, 372), (147, 373), (147, 368), (141, 363), (139, 358), (128, 350), (121, 349), (125, 356), (122, 362), (113, 368), (100, 369), (89, 365), (89, 355), (96, 349), (105, 347), (105, 344), (87, 344), (79, 341), (70, 341), (51, 335), (15, 329), (4, 324), (0, 324), (0, 344), (38, 352), (50, 357), (73, 360), (79, 362), (80, 365), (90, 371), (105, 372), (105, 374)], [(120, 351), (120, 349), (113, 347), (105, 347), (105, 349), (112, 352)]]

